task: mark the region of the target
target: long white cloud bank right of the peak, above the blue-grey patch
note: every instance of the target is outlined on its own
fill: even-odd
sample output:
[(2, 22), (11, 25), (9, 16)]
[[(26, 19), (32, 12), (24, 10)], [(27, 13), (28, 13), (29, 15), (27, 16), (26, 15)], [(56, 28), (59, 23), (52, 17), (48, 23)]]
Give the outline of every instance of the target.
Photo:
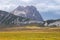
[(47, 3), (36, 4), (36, 7), (40, 12), (60, 10), (60, 5), (53, 5), (53, 4), (47, 4)]

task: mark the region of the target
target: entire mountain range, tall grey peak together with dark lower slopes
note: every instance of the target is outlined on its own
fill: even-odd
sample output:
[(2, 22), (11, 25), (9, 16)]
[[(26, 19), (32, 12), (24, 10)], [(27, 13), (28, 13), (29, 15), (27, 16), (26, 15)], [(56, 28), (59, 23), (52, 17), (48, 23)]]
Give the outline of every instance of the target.
[(23, 24), (31, 22), (47, 22), (50, 24), (57, 21), (60, 21), (60, 19), (43, 21), (43, 18), (34, 6), (18, 6), (10, 13), (0, 10), (0, 25), (20, 25), (21, 22)]

